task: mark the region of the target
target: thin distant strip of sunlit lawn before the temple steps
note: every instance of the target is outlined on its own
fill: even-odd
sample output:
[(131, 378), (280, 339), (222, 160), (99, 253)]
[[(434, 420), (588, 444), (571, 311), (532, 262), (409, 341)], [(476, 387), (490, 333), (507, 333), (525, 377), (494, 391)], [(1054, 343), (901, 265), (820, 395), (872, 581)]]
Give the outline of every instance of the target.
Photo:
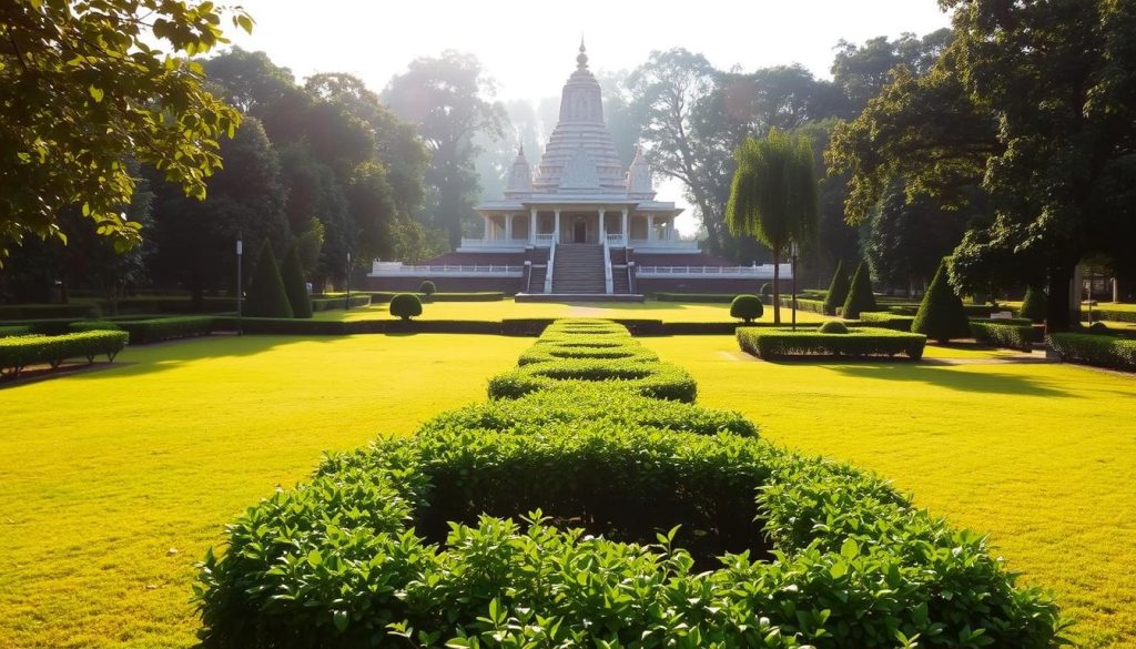
[[(774, 309), (767, 306), (760, 322), (774, 322)], [(387, 305), (371, 305), (366, 308), (349, 311), (318, 311), (314, 316), (323, 321), (359, 321), (390, 318)], [(663, 322), (732, 322), (729, 305), (715, 303), (680, 303), (680, 302), (516, 302), (500, 300), (494, 302), (428, 302), (423, 305), (421, 319), (435, 321), (500, 321), (504, 318), (562, 318), (562, 317), (598, 317), (598, 318), (650, 318)], [(782, 307), (782, 322), (790, 322), (790, 310)], [(812, 311), (796, 313), (797, 322), (818, 323), (827, 319)]]

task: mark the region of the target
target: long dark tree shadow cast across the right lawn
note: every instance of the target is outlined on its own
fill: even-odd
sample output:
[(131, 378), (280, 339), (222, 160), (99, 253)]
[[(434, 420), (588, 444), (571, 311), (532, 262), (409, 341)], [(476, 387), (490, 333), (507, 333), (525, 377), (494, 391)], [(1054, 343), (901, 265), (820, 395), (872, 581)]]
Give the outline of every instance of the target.
[(828, 369), (855, 378), (874, 378), (879, 381), (918, 381), (958, 390), (960, 392), (983, 392), (997, 394), (1019, 394), (1028, 397), (1074, 397), (1074, 394), (1054, 388), (1050, 382), (1038, 381), (1024, 374), (1006, 372), (977, 373), (960, 371), (963, 366), (928, 365), (922, 363), (871, 363), (829, 365)]

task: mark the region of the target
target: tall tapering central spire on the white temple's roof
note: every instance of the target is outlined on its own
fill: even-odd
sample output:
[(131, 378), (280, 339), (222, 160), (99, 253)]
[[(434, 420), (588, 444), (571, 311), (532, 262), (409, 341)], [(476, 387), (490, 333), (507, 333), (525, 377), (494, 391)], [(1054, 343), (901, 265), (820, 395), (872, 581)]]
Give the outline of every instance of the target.
[[(585, 161), (576, 161), (573, 166), (580, 158), (578, 150), (582, 149), (583, 157), (595, 175), (594, 186), (587, 189), (602, 193), (626, 193), (624, 166), (619, 161), (611, 133), (603, 123), (600, 82), (587, 69), (587, 53), (583, 42), (576, 63), (576, 72), (568, 77), (560, 94), (560, 119), (549, 136), (533, 188), (540, 193), (585, 189), (578, 186), (583, 182), (578, 173), (568, 173), (569, 167), (582, 173), (586, 166)], [(565, 180), (568, 180), (567, 184), (563, 183)], [(591, 177), (587, 181), (591, 182)]]

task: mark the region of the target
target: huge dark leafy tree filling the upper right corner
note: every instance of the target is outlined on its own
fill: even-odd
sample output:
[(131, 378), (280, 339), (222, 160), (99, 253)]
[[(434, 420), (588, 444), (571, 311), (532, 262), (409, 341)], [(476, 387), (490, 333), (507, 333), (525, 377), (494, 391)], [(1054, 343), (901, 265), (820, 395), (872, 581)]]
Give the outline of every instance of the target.
[[(1051, 330), (1070, 326), (1076, 264), (1136, 234), (1136, 6), (1114, 0), (944, 0), (955, 39), (932, 72), (900, 68), (834, 136), (862, 217), (891, 178), (947, 205), (979, 185), (994, 218), (963, 241), (972, 261), (1034, 260)], [(957, 253), (955, 257), (960, 257)], [(1128, 252), (1130, 255), (1130, 251)], [(951, 265), (955, 285), (975, 282)], [(1026, 280), (1026, 277), (1022, 277)]]

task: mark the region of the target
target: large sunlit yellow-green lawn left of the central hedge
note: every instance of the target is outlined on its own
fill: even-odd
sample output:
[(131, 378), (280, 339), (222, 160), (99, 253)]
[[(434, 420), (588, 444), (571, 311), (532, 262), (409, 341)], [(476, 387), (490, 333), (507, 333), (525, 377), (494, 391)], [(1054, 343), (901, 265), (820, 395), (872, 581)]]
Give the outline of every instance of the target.
[(529, 344), (214, 336), (0, 389), (0, 647), (192, 644), (193, 563), (225, 523), (325, 449), (484, 399)]

